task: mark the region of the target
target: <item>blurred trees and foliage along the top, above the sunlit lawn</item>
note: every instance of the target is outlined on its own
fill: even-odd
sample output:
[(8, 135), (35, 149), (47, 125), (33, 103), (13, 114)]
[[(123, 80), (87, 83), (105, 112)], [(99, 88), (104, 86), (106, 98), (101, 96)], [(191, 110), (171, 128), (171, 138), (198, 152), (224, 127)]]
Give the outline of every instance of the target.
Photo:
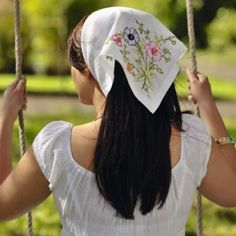
[[(68, 73), (66, 59), (67, 37), (82, 16), (102, 7), (129, 6), (156, 15), (179, 38), (187, 42), (185, 1), (182, 0), (40, 0), (21, 1), (22, 48), (24, 72), (47, 74)], [(235, 0), (195, 0), (195, 28), (199, 45), (206, 46), (210, 37), (212, 47), (235, 44)], [(0, 4), (0, 71), (14, 71), (14, 12), (13, 1)], [(222, 22), (230, 22), (222, 28)], [(209, 23), (211, 26), (206, 27)], [(207, 29), (207, 30), (206, 30)], [(226, 29), (225, 31), (222, 31)], [(223, 32), (223, 33), (221, 33)], [(211, 36), (212, 34), (212, 36)], [(219, 37), (218, 37), (219, 36)]]

